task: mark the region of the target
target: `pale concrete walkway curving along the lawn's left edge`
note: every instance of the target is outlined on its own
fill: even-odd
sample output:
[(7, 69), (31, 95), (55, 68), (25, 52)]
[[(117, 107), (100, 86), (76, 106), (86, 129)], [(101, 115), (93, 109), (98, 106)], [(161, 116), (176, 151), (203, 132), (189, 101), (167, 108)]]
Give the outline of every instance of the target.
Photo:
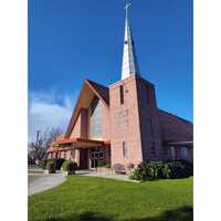
[(29, 196), (34, 194), (62, 183), (66, 178), (63, 173), (54, 173), (54, 175), (31, 175), (36, 176), (36, 179), (29, 179)]

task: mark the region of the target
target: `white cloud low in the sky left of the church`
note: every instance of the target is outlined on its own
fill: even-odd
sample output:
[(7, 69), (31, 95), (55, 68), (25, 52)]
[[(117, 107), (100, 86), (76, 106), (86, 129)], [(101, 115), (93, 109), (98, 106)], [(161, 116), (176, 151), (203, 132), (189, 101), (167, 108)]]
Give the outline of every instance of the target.
[(34, 92), (29, 96), (29, 141), (34, 141), (36, 130), (60, 127), (64, 131), (70, 122), (76, 96), (55, 92)]

